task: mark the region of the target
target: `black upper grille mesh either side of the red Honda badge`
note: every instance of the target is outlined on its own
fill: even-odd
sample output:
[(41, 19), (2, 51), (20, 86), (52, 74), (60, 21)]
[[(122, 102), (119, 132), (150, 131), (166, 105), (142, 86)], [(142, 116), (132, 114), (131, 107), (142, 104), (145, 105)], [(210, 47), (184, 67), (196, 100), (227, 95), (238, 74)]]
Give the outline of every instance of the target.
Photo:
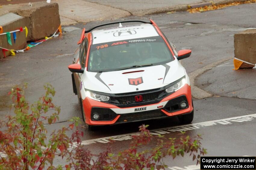
[[(157, 100), (159, 97), (159, 94), (161, 94), (161, 91), (154, 92), (154, 93), (148, 93), (148, 94), (142, 94), (142, 102), (145, 101), (152, 101)], [(124, 97), (114, 97), (119, 103), (125, 104), (125, 103), (135, 103), (135, 96), (124, 96)]]

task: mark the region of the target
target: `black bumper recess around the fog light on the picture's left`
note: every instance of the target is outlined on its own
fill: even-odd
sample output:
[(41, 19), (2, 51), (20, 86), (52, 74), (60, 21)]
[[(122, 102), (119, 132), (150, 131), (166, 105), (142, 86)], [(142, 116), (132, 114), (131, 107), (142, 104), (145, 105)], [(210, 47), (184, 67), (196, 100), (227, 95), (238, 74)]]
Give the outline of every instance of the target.
[[(92, 117), (93, 113), (99, 114), (99, 116), (100, 116), (99, 120), (93, 119), (93, 117)], [(92, 111), (91, 111), (91, 119), (93, 121), (112, 121), (116, 117), (117, 117), (117, 114), (108, 108), (93, 107)]]

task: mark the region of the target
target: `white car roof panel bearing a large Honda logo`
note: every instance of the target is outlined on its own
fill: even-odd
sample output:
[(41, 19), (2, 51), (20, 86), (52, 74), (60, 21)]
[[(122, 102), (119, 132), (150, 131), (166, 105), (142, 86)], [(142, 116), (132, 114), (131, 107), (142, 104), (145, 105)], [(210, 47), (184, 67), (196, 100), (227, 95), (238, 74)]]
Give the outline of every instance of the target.
[(159, 36), (152, 24), (126, 25), (92, 31), (92, 44)]

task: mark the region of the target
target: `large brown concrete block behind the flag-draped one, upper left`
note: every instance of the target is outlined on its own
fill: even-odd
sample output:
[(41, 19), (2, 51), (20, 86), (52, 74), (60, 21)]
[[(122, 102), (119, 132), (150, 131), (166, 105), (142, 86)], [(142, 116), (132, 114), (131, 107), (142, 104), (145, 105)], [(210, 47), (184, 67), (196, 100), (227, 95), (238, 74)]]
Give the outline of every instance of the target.
[(35, 41), (53, 34), (61, 24), (57, 3), (33, 3), (32, 7), (23, 6), (15, 11), (18, 15), (29, 18), (27, 41)]

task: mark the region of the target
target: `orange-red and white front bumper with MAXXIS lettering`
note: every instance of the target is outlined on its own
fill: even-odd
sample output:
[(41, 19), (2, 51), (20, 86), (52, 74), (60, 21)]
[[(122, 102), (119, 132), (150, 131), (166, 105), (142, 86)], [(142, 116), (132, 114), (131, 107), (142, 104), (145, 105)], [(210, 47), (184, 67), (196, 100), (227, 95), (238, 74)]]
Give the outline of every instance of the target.
[[(176, 103), (180, 103), (182, 101), (187, 102), (187, 107), (185, 109), (180, 109), (176, 106)], [(83, 100), (83, 108), (86, 117), (86, 124), (89, 125), (111, 125), (159, 119), (190, 113), (193, 111), (191, 88), (188, 84), (155, 104), (120, 108), (112, 104), (99, 102), (86, 97), (85, 100)], [(100, 121), (92, 120), (91, 113), (94, 112), (98, 112), (101, 115)]]

